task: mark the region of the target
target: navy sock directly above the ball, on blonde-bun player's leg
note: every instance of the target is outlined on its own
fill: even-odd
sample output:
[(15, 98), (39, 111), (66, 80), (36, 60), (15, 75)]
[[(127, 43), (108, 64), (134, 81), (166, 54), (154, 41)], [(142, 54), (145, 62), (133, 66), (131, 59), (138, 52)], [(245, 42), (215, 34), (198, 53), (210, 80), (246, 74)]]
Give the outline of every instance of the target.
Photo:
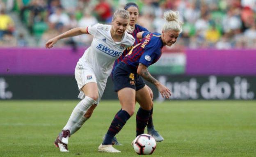
[(149, 114), (151, 110), (144, 110), (139, 108), (136, 115), (136, 137), (144, 133), (144, 129), (149, 121)]

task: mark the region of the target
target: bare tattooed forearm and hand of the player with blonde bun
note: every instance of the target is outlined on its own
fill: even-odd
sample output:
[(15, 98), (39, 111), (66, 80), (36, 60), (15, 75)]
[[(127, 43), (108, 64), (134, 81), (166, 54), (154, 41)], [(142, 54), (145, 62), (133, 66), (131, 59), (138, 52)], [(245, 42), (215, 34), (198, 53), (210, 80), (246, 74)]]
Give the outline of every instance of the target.
[(141, 75), (144, 79), (154, 84), (158, 88), (158, 91), (161, 93), (162, 97), (166, 97), (169, 99), (169, 97), (171, 96), (171, 91), (166, 86), (162, 85), (158, 80), (156, 80), (149, 73), (148, 68), (144, 64), (139, 63), (137, 74)]

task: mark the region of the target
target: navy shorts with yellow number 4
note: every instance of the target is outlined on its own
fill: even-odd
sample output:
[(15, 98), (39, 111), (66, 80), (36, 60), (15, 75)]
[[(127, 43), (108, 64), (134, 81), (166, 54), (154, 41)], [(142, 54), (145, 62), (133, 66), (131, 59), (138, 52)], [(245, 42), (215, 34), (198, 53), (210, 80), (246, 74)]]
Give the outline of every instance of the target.
[(123, 62), (119, 62), (115, 67), (113, 80), (114, 91), (116, 92), (126, 87), (138, 91), (146, 85), (142, 77), (137, 74), (137, 68)]

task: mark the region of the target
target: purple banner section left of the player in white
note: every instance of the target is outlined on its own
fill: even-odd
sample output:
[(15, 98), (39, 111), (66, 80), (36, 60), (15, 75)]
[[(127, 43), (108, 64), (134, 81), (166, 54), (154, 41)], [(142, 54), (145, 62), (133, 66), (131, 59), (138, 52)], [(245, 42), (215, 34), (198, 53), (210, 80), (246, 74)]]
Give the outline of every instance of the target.
[(0, 74), (72, 74), (85, 49), (0, 49)]

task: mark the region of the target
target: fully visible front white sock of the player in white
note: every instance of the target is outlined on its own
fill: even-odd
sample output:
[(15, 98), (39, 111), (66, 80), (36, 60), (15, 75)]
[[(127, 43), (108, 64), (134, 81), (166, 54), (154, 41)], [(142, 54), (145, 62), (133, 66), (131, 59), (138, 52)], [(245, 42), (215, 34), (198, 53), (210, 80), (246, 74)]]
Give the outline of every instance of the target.
[(80, 118), (86, 113), (86, 111), (91, 107), (91, 105), (95, 104), (95, 100), (90, 97), (85, 97), (81, 100), (74, 108), (69, 120), (64, 126), (63, 130), (72, 130), (72, 127), (80, 120)]

